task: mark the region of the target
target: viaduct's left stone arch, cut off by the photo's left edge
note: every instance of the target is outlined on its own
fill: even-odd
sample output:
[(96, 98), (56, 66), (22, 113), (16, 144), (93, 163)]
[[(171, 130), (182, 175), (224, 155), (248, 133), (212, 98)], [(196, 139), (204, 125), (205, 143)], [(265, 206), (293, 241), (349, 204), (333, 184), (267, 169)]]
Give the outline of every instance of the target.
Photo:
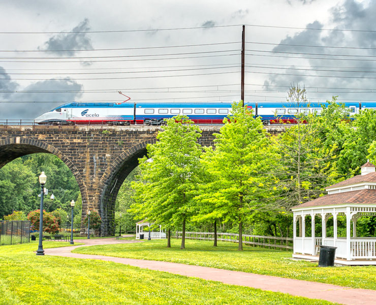
[(36, 153), (52, 154), (57, 156), (62, 162), (64, 162), (76, 178), (82, 197), (82, 205), (84, 204), (84, 202), (87, 202), (87, 190), (84, 184), (84, 180), (77, 167), (65, 154), (48, 143), (42, 142), (40, 140), (30, 139), (28, 137), (0, 139), (0, 168), (13, 161), (14, 159)]

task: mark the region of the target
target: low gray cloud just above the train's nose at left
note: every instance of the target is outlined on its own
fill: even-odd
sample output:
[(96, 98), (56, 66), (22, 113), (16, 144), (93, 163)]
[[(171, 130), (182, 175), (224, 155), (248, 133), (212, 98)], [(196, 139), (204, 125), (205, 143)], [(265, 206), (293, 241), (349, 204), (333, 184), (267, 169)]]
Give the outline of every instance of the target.
[[(2, 108), (2, 111), (0, 111), (0, 118), (34, 119), (38, 115), (47, 112), (60, 104), (74, 102), (77, 98), (81, 97), (81, 89), (82, 85), (70, 78), (38, 81), (25, 87), (20, 92), (13, 93), (11, 96), (9, 96), (8, 101), (13, 101), (12, 103), (0, 104)], [(37, 91), (40, 90), (58, 90), (61, 91), (61, 93), (38, 93)], [(75, 90), (77, 92), (64, 92), (71, 90)], [(28, 93), (27, 91), (35, 92)], [(15, 103), (23, 101), (30, 102)]]

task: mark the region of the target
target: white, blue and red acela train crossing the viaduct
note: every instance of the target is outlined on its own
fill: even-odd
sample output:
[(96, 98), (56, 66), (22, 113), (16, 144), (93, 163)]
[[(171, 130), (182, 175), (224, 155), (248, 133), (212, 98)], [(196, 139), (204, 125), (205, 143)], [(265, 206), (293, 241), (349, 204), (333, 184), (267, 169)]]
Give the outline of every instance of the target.
[[(254, 116), (260, 116), (265, 125), (289, 122), (294, 123), (298, 113), (320, 114), (322, 105), (328, 103), (309, 103), (296, 107), (287, 102), (247, 102)], [(350, 116), (363, 108), (376, 108), (376, 103), (343, 103)], [(222, 124), (223, 119), (231, 114), (230, 102), (216, 103), (68, 103), (58, 106), (35, 118), (38, 124), (108, 124), (108, 125), (162, 125), (164, 118), (178, 114), (186, 115), (196, 124)]]

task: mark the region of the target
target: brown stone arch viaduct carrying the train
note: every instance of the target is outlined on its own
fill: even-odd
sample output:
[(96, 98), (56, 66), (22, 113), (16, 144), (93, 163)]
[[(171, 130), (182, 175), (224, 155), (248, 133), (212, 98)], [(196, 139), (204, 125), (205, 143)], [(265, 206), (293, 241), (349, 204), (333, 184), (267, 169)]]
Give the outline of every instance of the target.
[[(200, 143), (213, 144), (221, 126), (203, 126)], [(150, 126), (0, 126), (0, 168), (34, 153), (60, 158), (75, 176), (82, 196), (82, 219), (96, 210), (101, 235), (114, 234), (115, 200), (124, 179), (156, 141), (159, 127)], [(279, 133), (281, 127), (268, 127)]]

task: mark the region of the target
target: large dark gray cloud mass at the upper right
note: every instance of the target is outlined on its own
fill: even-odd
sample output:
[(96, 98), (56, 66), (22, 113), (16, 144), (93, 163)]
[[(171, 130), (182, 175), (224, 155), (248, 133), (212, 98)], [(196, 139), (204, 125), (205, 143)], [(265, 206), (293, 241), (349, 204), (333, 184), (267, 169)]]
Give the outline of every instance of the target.
[[(374, 16), (376, 13), (376, 2), (370, 2), (368, 5), (357, 3), (354, 0), (347, 0), (341, 6), (337, 6), (331, 10), (331, 21), (335, 24), (335, 29), (372, 29), (371, 24), (374, 24)], [(315, 21), (307, 24), (307, 28), (323, 28), (323, 25)], [(322, 46), (316, 47), (299, 47), (299, 46), (285, 46), (283, 44), (295, 45), (312, 45)], [(280, 41), (280, 44), (273, 48), (274, 51), (284, 52), (302, 52), (302, 53), (317, 53), (317, 54), (331, 54), (331, 55), (371, 55), (376, 56), (375, 50), (359, 50), (359, 49), (338, 49), (328, 48), (327, 46), (336, 47), (360, 47), (369, 48), (376, 47), (376, 33), (372, 32), (344, 32), (344, 31), (312, 31), (306, 29), (292, 37), (287, 36)], [(285, 55), (285, 54), (276, 54)], [(293, 56), (299, 56), (294, 55)], [(270, 75), (264, 82), (264, 85), (289, 85), (290, 83), (299, 83), (306, 87), (341, 87), (341, 88), (375, 88), (374, 79), (369, 78), (338, 78), (338, 77), (315, 77), (315, 75), (324, 76), (356, 76), (356, 77), (375, 77), (373, 73), (367, 73), (369, 68), (376, 69), (376, 63), (372, 61), (360, 60), (335, 60), (335, 56), (325, 55), (302, 55), (302, 57), (321, 57), (322, 59), (287, 59), (280, 58), (284, 65), (292, 66), (310, 66), (305, 69), (311, 71), (298, 71), (298, 70), (274, 70), (273, 73), (281, 73), (286, 75)], [(270, 57), (272, 58), (272, 57)], [(328, 58), (328, 59), (323, 59)], [(355, 57), (346, 57), (348, 59)], [(361, 57), (357, 57), (361, 58)], [(370, 59), (370, 58), (367, 58)], [(277, 60), (277, 59), (270, 59)], [(290, 68), (291, 68), (290, 67)], [(325, 67), (338, 67), (338, 68), (325, 68)], [(333, 70), (346, 70), (355, 67), (359, 73), (350, 72), (335, 72)], [(302, 68), (302, 67), (300, 67)], [(331, 71), (313, 71), (318, 70), (331, 70)], [(301, 76), (293, 76), (287, 74), (300, 74)], [(312, 75), (312, 76), (304, 76)], [(334, 90), (328, 90), (325, 95), (312, 94), (312, 97), (330, 98), (331, 95), (337, 95)], [(343, 90), (342, 90), (343, 91)], [(374, 99), (373, 94), (362, 95), (363, 99)], [(308, 95), (309, 97), (309, 95)], [(346, 99), (359, 99), (354, 93), (340, 93), (339, 100)]]

